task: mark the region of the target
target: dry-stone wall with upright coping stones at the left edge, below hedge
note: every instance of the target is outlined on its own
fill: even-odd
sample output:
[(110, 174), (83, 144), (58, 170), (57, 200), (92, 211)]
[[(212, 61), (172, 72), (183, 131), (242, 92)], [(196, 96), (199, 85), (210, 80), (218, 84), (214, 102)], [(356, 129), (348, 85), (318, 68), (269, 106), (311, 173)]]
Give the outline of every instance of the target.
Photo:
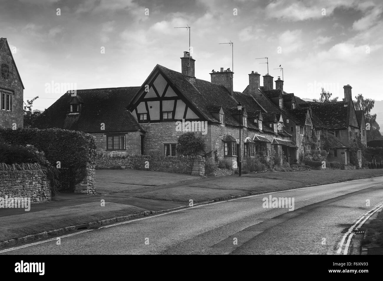
[(52, 198), (51, 184), (45, 167), (37, 163), (0, 163), (0, 197), (30, 197), (31, 203), (49, 201)]

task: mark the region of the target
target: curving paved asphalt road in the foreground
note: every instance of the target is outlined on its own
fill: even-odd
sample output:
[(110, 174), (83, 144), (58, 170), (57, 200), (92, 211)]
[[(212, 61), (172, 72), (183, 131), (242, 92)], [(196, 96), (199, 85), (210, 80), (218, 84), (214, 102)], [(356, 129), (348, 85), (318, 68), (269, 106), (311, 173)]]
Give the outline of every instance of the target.
[[(294, 198), (294, 211), (263, 208), (269, 195)], [(383, 177), (356, 180), (195, 206), (0, 253), (335, 254), (349, 227), (382, 201)], [(349, 254), (359, 254), (361, 236)]]

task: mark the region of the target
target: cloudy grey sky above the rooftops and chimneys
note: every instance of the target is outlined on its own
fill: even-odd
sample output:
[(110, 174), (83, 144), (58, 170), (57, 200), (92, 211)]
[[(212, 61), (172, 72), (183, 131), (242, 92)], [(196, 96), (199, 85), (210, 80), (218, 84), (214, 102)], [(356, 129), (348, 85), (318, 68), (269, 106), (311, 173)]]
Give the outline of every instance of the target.
[[(0, 37), (6, 37), (35, 109), (62, 93), (47, 83), (77, 89), (141, 86), (158, 63), (180, 71), (191, 26), (195, 75), (232, 66), (234, 90), (243, 91), (252, 70), (282, 76), (284, 90), (318, 98), (320, 87), (343, 97), (381, 97), (381, 0), (0, 0)], [(57, 9), (60, 9), (59, 12)], [(57, 15), (60, 14), (60, 15)], [(102, 50), (105, 49), (105, 53)], [(282, 78), (282, 77), (281, 77)], [(275, 80), (274, 79), (274, 80)], [(262, 79), (261, 79), (262, 84)]]

